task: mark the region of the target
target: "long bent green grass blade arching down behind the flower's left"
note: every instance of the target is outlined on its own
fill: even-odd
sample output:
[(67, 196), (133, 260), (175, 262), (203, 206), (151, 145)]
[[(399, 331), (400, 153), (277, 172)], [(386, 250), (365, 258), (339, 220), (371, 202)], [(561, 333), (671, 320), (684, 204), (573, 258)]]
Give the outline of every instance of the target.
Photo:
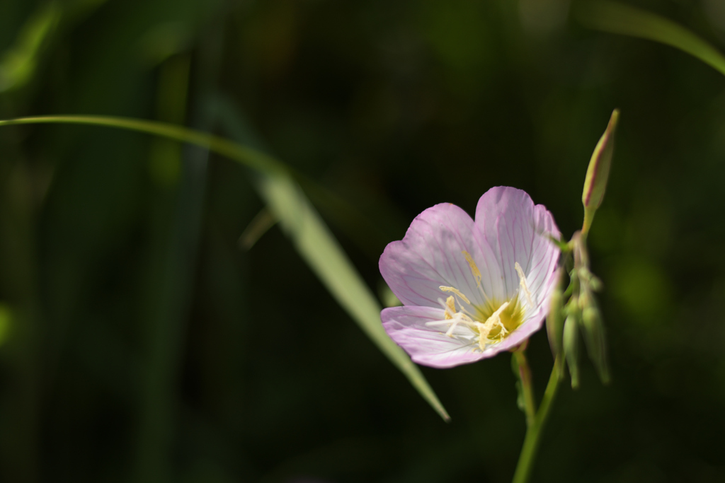
[(102, 125), (164, 136), (208, 148), (259, 172), (262, 175), (259, 183), (262, 196), (283, 230), (293, 240), (302, 258), (373, 343), (405, 374), (421, 396), (443, 419), (450, 419), (418, 366), (386, 334), (380, 322), (381, 307), (370, 288), (365, 285), (297, 182), (279, 161), (225, 138), (186, 127), (141, 119), (99, 116), (22, 117), (0, 121), (0, 126), (38, 123)]

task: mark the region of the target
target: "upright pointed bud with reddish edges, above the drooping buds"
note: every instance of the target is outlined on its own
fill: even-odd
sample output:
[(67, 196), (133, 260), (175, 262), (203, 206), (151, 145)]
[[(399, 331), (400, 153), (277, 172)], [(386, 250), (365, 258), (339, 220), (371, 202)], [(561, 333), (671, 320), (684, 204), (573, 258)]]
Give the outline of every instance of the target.
[(597, 147), (594, 149), (592, 159), (589, 161), (587, 177), (584, 178), (584, 192), (581, 193), (581, 203), (584, 203), (584, 225), (581, 227), (583, 233), (589, 231), (597, 208), (604, 199), (604, 192), (609, 178), (609, 167), (614, 152), (614, 133), (617, 129), (618, 119), (619, 110), (614, 109), (607, 130), (602, 134)]

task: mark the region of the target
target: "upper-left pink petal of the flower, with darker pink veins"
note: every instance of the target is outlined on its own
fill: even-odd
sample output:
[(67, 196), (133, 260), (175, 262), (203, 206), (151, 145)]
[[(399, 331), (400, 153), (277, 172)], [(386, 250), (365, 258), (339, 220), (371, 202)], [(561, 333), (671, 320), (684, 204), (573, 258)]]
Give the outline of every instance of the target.
[(440, 307), (439, 300), (450, 295), (440, 290), (442, 285), (460, 290), (471, 303), (484, 303), (463, 254), (481, 263), (473, 231), (473, 219), (465, 211), (451, 203), (437, 204), (415, 217), (402, 240), (389, 243), (380, 257), (380, 272), (408, 306)]

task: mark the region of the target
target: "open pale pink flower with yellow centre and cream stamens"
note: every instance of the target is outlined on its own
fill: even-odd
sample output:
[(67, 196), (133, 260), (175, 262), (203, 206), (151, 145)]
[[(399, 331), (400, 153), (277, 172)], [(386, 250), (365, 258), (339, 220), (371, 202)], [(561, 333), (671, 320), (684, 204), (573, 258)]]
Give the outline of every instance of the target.
[(404, 304), (381, 313), (388, 335), (425, 366), (469, 364), (521, 345), (542, 327), (560, 238), (525, 191), (484, 193), (476, 221), (451, 203), (426, 209), (389, 243), (380, 272)]

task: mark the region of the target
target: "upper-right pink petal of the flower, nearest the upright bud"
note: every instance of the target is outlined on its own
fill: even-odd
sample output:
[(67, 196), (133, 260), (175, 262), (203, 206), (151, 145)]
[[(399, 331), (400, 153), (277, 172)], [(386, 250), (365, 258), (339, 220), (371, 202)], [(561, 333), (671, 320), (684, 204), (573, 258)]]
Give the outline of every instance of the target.
[(498, 186), (479, 199), (476, 227), (498, 261), (506, 298), (518, 290), (518, 262), (531, 293), (539, 303), (546, 300), (544, 294), (550, 292), (548, 283), (559, 256), (558, 247), (547, 237), (560, 236), (550, 212), (542, 205), (534, 206), (525, 191)]

